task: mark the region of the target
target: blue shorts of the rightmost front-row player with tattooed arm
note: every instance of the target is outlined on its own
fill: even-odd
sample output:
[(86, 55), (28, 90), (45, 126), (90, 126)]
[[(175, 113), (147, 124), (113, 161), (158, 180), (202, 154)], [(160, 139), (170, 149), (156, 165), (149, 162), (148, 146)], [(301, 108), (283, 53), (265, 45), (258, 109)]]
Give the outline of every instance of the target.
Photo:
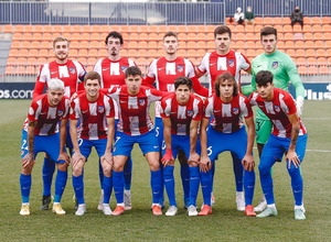
[[(298, 136), (296, 153), (300, 162), (302, 162), (305, 157), (307, 139), (308, 139), (308, 134)], [(263, 163), (265, 160), (271, 161), (275, 158), (281, 161), (284, 153), (289, 148), (290, 142), (291, 142), (291, 138), (278, 138), (274, 134), (270, 134), (267, 143), (264, 146), (260, 156), (260, 163)]]

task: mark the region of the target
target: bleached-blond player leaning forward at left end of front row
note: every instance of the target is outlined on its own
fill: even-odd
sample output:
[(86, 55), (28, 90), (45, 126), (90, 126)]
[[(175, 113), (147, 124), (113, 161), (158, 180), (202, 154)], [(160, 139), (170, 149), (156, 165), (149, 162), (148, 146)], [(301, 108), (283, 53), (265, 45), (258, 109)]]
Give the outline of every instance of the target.
[[(55, 198), (53, 212), (65, 215), (61, 207), (61, 197), (67, 180), (68, 155), (65, 153), (66, 125), (70, 100), (64, 96), (64, 85), (60, 79), (49, 80), (49, 90), (36, 97), (29, 109), (24, 122), (21, 157), (22, 174), (20, 177), (22, 208), (21, 216), (30, 215), (31, 172), (38, 153), (45, 152), (50, 162), (56, 163)], [(58, 120), (62, 120), (58, 133)]]

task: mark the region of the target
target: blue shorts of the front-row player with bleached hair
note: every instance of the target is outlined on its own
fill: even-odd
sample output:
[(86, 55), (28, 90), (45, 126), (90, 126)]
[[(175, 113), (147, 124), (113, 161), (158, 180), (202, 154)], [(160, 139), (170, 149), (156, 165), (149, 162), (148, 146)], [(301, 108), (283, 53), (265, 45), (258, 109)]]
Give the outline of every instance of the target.
[[(45, 152), (51, 161), (62, 164), (64, 161), (57, 161), (60, 155), (60, 133), (53, 135), (34, 135), (34, 158), (40, 152)], [(21, 158), (28, 154), (28, 132), (22, 131), (22, 142), (21, 142)]]

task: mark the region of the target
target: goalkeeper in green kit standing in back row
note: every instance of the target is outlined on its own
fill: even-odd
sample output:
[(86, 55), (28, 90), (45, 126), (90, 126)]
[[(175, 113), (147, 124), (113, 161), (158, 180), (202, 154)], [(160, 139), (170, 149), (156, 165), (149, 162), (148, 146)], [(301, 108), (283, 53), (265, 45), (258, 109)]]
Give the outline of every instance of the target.
[[(243, 88), (244, 95), (249, 95), (256, 90), (255, 76), (260, 70), (269, 70), (274, 75), (274, 85), (277, 88), (288, 91), (289, 81), (296, 88), (297, 111), (300, 117), (303, 110), (305, 88), (300, 80), (297, 66), (293, 61), (285, 53), (277, 50), (277, 30), (266, 26), (260, 30), (260, 43), (265, 53), (260, 54), (252, 62), (253, 78), (252, 85)], [(271, 133), (271, 121), (258, 108), (256, 114), (256, 143), (258, 155), (261, 155), (264, 145)], [(263, 196), (255, 211), (263, 211), (267, 206)]]

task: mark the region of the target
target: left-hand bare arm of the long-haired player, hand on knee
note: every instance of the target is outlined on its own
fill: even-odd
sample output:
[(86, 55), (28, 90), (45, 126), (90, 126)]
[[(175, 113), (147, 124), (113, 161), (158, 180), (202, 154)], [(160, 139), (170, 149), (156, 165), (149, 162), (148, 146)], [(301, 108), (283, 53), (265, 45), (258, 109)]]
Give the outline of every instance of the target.
[(207, 154), (207, 136), (206, 129), (210, 124), (210, 119), (202, 118), (201, 129), (200, 129), (200, 143), (201, 143), (201, 160), (200, 168), (202, 172), (206, 173), (212, 167), (211, 160)]

